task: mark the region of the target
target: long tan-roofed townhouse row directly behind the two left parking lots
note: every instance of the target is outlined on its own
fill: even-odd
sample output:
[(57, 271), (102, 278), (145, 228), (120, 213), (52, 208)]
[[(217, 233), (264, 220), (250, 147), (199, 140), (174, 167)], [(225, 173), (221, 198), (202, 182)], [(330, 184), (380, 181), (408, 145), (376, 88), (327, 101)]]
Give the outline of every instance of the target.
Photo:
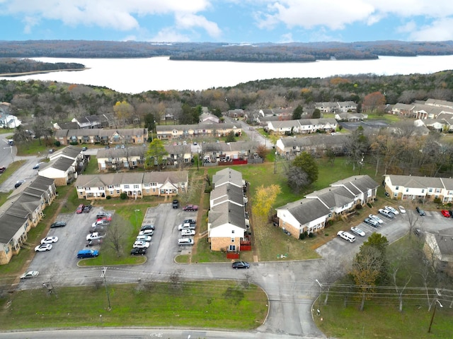
[(79, 199), (143, 198), (176, 196), (188, 188), (188, 172), (120, 172), (80, 175), (75, 183)]

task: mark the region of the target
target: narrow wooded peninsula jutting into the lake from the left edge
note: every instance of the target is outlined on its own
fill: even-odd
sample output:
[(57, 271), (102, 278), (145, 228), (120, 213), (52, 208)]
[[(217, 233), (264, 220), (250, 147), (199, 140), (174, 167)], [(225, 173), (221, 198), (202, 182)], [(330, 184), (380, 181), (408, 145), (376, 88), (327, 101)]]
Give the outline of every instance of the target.
[(20, 74), (14, 73), (38, 73), (47, 71), (58, 71), (62, 69), (84, 69), (85, 66), (82, 64), (76, 64), (74, 62), (69, 63), (50, 63), (40, 62), (31, 59), (13, 59), (13, 58), (1, 58), (0, 59), (0, 74), (3, 76), (14, 76)]

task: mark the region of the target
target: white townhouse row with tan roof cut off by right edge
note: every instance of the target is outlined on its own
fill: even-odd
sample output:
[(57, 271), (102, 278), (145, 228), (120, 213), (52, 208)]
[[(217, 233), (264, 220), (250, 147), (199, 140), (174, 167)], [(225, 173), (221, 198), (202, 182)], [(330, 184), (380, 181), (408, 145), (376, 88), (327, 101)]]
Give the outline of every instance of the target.
[(394, 199), (453, 202), (452, 178), (386, 174), (383, 184), (386, 193)]

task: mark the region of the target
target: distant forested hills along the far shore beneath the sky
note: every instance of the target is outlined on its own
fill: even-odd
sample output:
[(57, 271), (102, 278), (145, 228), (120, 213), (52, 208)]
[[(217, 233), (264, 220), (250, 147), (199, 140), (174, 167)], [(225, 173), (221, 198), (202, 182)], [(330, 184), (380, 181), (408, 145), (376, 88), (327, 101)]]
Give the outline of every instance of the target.
[(88, 40), (0, 41), (0, 58), (144, 58), (178, 60), (314, 61), (377, 59), (386, 56), (450, 55), (453, 42), (292, 42), (287, 44), (224, 44), (212, 42), (118, 42)]

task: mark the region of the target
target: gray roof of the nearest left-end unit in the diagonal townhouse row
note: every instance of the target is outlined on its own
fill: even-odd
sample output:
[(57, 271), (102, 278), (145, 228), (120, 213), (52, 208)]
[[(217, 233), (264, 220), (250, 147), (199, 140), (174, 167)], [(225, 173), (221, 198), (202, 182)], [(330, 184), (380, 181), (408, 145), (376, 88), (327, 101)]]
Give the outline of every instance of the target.
[(292, 203), (287, 203), (285, 206), (277, 208), (278, 210), (289, 210), (294, 218), (301, 224), (316, 220), (331, 213), (318, 199), (301, 199)]

